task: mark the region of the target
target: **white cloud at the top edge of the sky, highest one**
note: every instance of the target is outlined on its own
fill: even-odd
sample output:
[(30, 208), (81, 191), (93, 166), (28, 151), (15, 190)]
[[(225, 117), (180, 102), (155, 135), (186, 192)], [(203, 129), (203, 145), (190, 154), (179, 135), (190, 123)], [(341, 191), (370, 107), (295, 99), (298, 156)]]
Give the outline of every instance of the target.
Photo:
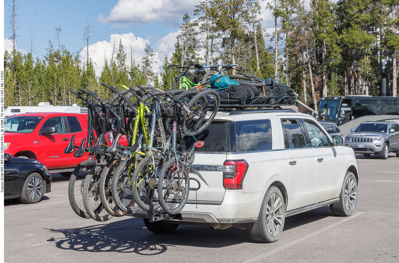
[(119, 0), (104, 18), (100, 14), (97, 18), (103, 23), (119, 24), (151, 24), (162, 22), (165, 26), (177, 28), (184, 14), (191, 15), (198, 0)]

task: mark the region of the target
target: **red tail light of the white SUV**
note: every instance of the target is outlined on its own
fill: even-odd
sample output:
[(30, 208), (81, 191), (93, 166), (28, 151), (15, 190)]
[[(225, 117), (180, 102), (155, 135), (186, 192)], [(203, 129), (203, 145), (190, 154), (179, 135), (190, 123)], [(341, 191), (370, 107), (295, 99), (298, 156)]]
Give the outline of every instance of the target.
[(248, 170), (245, 160), (226, 160), (223, 163), (223, 186), (226, 189), (242, 189)]

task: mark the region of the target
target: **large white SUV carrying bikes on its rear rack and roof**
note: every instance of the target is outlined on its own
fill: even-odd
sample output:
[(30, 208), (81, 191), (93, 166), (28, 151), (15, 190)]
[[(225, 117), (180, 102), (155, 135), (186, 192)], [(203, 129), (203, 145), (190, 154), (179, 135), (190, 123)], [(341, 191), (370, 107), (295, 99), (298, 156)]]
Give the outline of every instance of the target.
[(357, 202), (356, 157), (341, 136), (333, 137), (293, 110), (218, 112), (196, 136), (204, 145), (196, 149), (190, 178), (201, 187), (190, 191), (180, 214), (159, 221), (145, 211), (133, 216), (156, 233), (178, 224), (234, 226), (261, 242), (277, 241), (285, 217), (300, 212), (330, 205), (334, 215), (350, 216)]

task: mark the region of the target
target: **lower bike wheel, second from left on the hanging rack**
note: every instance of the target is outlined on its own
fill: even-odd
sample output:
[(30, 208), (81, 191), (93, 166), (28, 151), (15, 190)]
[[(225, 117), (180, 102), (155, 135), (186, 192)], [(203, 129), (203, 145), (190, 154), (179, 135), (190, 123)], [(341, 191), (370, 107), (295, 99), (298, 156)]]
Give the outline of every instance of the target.
[(99, 193), (100, 175), (105, 165), (107, 165), (105, 162), (99, 163), (87, 173), (82, 190), (83, 204), (85, 204), (86, 212), (92, 219), (98, 222), (105, 222), (113, 218), (113, 216), (108, 214), (107, 210), (104, 209)]

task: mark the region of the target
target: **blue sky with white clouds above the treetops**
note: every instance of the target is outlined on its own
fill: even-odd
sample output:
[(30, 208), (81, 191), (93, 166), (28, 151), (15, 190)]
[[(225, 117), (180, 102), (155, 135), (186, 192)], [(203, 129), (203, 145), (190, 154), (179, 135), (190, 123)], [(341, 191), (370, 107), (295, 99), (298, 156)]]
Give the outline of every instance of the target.
[[(12, 4), (12, 0), (8, 0)], [(10, 37), (7, 28), (9, 8), (4, 1), (4, 39)], [(34, 33), (34, 56), (43, 58), (49, 40), (54, 47), (58, 45), (55, 27), (61, 27), (60, 42), (71, 51), (80, 52), (82, 63), (86, 61), (86, 43), (83, 29), (88, 19), (93, 26), (94, 39), (90, 41), (89, 57), (95, 63), (97, 73), (101, 71), (104, 60), (110, 59), (113, 43), (119, 40), (130, 57), (141, 61), (146, 43), (150, 43), (156, 53), (154, 71), (159, 73), (165, 55), (170, 55), (176, 43), (176, 36), (184, 14), (193, 14), (199, 0), (91, 0), (91, 1), (49, 1), (17, 0), (18, 22), (17, 48), (30, 52), (31, 30)], [(265, 2), (260, 2), (266, 6)], [(263, 27), (271, 28), (271, 17), (263, 8)], [(273, 20), (273, 19), (272, 19)], [(273, 21), (272, 21), (273, 22)], [(269, 30), (268, 30), (269, 31)], [(5, 40), (5, 49), (10, 45)], [(130, 61), (130, 59), (129, 59)]]

